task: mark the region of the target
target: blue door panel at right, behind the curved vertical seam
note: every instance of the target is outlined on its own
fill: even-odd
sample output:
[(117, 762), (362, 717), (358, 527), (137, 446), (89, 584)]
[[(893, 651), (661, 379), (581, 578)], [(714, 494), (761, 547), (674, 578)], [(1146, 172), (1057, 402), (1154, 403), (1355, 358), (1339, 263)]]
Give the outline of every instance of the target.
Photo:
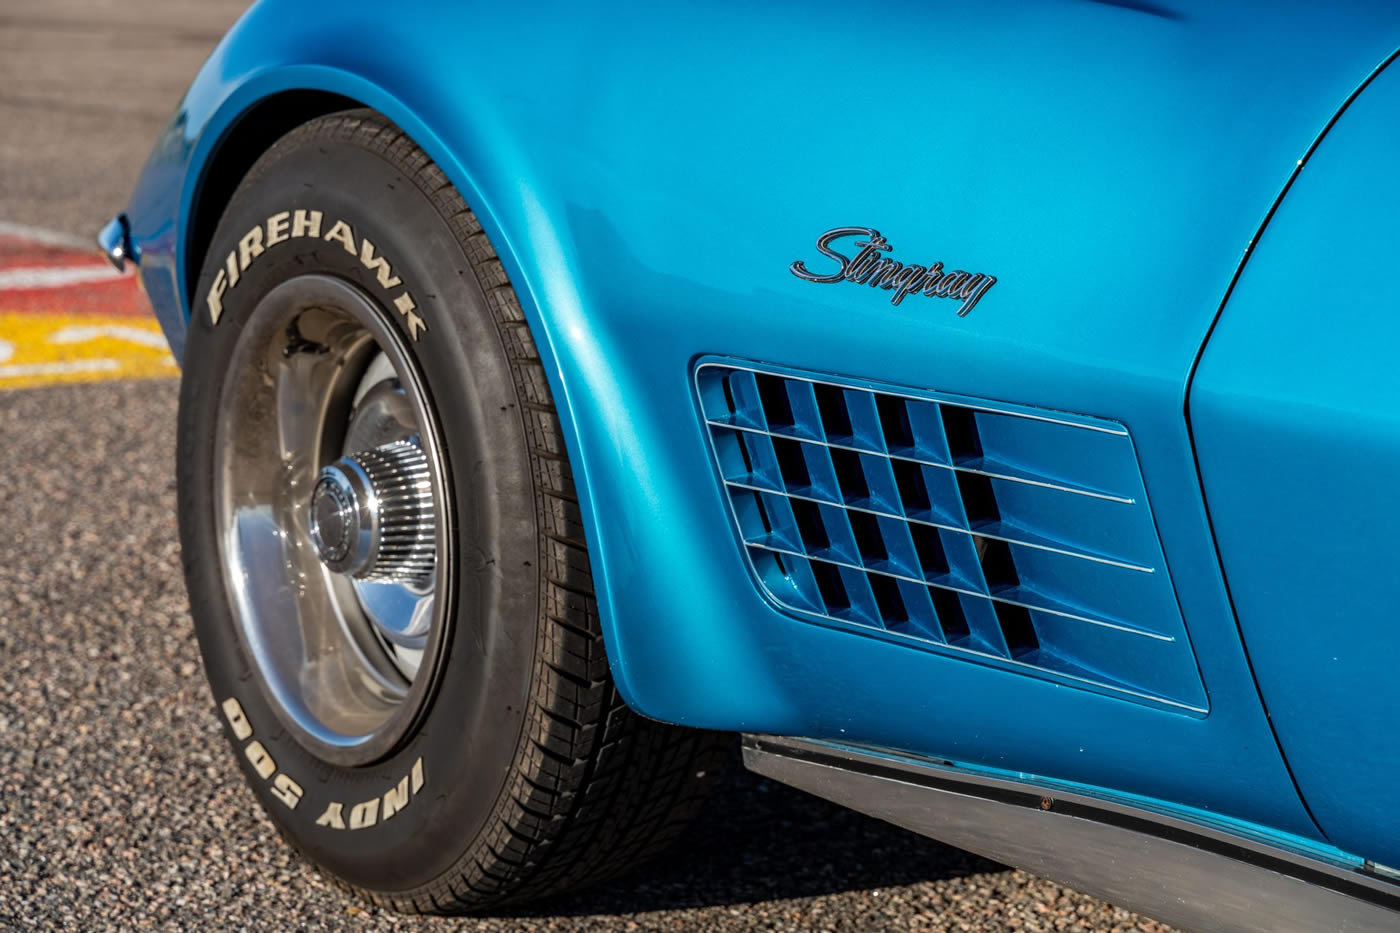
[[(1317, 822), (1400, 864), (1400, 70), (1309, 160), (1190, 395), (1201, 476), (1260, 691)], [(1313, 283), (1331, 283), (1323, 294)]]

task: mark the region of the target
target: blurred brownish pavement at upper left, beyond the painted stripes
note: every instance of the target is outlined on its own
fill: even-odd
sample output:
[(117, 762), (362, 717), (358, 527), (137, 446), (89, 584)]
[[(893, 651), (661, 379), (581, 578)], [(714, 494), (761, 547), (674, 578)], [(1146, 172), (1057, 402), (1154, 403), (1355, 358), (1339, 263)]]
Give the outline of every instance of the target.
[(126, 206), (157, 134), (246, 7), (0, 0), (0, 221), (95, 234)]

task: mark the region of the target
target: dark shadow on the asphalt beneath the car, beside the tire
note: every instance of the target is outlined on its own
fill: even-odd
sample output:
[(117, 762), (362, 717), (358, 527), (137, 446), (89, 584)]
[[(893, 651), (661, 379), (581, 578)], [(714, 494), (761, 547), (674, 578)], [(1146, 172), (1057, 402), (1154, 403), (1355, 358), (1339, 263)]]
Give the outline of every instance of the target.
[(759, 778), (735, 755), (704, 813), (664, 856), (580, 894), (496, 915), (557, 918), (741, 905), (1005, 870)]

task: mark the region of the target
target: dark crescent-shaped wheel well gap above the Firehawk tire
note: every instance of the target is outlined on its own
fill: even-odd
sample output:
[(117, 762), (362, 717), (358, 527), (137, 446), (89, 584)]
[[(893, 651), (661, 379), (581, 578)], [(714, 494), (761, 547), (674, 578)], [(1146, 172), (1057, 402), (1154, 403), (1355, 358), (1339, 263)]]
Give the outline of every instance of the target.
[(283, 91), (258, 101), (238, 116), (214, 147), (204, 174), (195, 189), (190, 209), (190, 233), (185, 242), (185, 300), (195, 301), (195, 283), (204, 265), (204, 254), (214, 238), (214, 228), (238, 182), (258, 157), (273, 143), (308, 120), (336, 111), (364, 106), (356, 99), (326, 91)]

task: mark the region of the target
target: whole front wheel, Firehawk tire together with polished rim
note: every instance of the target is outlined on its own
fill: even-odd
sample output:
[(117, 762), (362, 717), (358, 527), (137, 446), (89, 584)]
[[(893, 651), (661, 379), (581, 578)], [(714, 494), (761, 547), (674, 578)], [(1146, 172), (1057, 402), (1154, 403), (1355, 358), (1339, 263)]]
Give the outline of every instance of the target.
[(458, 192), (370, 111), (288, 133), (220, 220), (179, 521), (245, 776), (378, 902), (452, 912), (613, 874), (686, 825), (722, 759), (619, 699), (519, 303)]

